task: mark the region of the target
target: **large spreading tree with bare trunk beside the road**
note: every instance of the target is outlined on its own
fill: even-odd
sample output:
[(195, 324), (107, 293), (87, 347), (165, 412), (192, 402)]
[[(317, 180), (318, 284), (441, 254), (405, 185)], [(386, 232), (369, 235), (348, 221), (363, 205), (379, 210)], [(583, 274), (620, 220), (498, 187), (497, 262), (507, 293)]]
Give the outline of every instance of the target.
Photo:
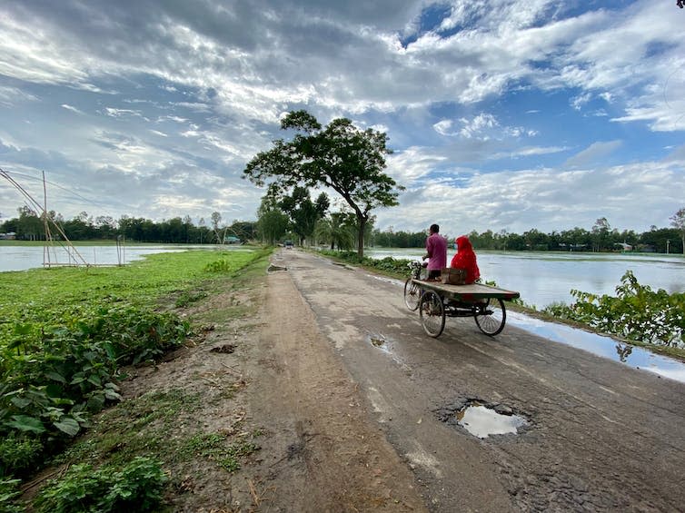
[(364, 251), (364, 232), (377, 207), (397, 205), (401, 185), (383, 173), (387, 135), (372, 128), (361, 130), (347, 118), (334, 119), (325, 128), (306, 111), (288, 113), (283, 130), (296, 131), (293, 139), (273, 142), (258, 153), (243, 177), (263, 186), (267, 181), (281, 190), (295, 186), (330, 187), (342, 196), (357, 218), (357, 253)]

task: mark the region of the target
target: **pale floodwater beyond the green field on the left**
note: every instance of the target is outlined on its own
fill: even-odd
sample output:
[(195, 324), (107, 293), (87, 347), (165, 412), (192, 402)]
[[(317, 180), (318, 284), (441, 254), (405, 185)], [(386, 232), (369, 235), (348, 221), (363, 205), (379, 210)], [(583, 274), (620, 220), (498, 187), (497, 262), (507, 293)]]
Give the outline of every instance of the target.
[(0, 241), (0, 272), (25, 271), (43, 267), (44, 261), (52, 265), (75, 265), (88, 263), (90, 265), (124, 265), (140, 260), (145, 255), (162, 252), (185, 252), (188, 250), (231, 250), (249, 251), (242, 246), (216, 245), (174, 245), (174, 244), (145, 244), (145, 245), (115, 245), (107, 246), (74, 246), (67, 248), (56, 245), (45, 250), (43, 246), (15, 246), (4, 245)]

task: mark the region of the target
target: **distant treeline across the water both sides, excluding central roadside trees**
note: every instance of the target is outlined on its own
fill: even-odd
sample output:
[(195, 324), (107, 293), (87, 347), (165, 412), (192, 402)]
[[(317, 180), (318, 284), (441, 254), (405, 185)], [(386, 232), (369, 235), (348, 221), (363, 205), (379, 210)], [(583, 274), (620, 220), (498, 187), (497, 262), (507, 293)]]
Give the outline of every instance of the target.
[[(149, 219), (122, 216), (119, 220), (100, 216), (93, 218), (82, 212), (74, 219), (65, 221), (60, 214), (49, 212), (51, 222), (65, 232), (70, 241), (115, 240), (122, 235), (135, 242), (157, 243), (217, 243), (229, 238), (242, 242), (259, 239), (256, 221), (234, 221), (231, 225), (220, 226), (221, 216), (213, 212), (209, 225), (200, 220), (195, 225), (190, 216), (175, 217), (162, 222)], [(59, 236), (55, 228), (52, 235)], [(19, 216), (0, 223), (0, 233), (14, 233), (20, 241), (45, 240), (45, 222), (42, 216), (23, 207)], [(450, 242), (462, 233), (443, 233)], [(477, 250), (508, 251), (579, 251), (579, 252), (670, 252), (682, 253), (682, 238), (676, 228), (657, 228), (649, 232), (611, 229), (605, 218), (597, 220), (591, 230), (573, 228), (561, 232), (544, 233), (536, 229), (527, 232), (511, 233), (506, 231), (467, 233)], [(422, 248), (426, 232), (381, 232), (373, 230), (366, 241), (367, 246), (387, 248)]]

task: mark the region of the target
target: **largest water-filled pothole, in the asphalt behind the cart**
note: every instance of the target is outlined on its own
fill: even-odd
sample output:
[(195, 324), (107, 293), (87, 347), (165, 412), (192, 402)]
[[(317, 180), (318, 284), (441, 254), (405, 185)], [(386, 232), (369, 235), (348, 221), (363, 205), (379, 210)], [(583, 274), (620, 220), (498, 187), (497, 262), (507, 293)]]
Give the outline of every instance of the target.
[(478, 399), (458, 400), (436, 413), (442, 422), (466, 429), (479, 439), (518, 434), (529, 425), (525, 417), (517, 415), (509, 406)]

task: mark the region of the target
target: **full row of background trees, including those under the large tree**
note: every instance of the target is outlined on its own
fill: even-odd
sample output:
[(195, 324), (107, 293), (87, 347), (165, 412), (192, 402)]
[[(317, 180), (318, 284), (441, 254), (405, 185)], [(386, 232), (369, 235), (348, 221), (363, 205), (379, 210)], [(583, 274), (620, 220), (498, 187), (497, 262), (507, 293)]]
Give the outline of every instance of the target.
[[(279, 199), (280, 198), (280, 199)], [(227, 236), (241, 241), (259, 241), (274, 245), (293, 239), (300, 245), (327, 246), (331, 249), (351, 250), (357, 242), (359, 223), (353, 212), (328, 212), (330, 202), (325, 193), (312, 201), (307, 189), (295, 187), (289, 195), (267, 193), (262, 200), (257, 221), (233, 221), (223, 225), (221, 214), (213, 212), (210, 225), (204, 219), (195, 225), (189, 216), (163, 222), (122, 216), (114, 220), (107, 216), (89, 216), (81, 212), (65, 221), (60, 214), (48, 212), (71, 241), (114, 240), (123, 235), (127, 240), (157, 243), (219, 243)], [(685, 215), (685, 209), (681, 209)], [(25, 241), (45, 240), (45, 222), (42, 215), (27, 207), (18, 209), (19, 216), (0, 223), (0, 232), (15, 232), (16, 238)], [(679, 211), (680, 212), (680, 211)], [(683, 252), (682, 228), (679, 217), (672, 218), (672, 228), (652, 226), (648, 232), (612, 229), (606, 218), (595, 222), (590, 230), (573, 228), (550, 233), (531, 229), (523, 233), (471, 232), (469, 238), (480, 250), (510, 251), (592, 251), (614, 252), (628, 244), (635, 251), (680, 253)], [(373, 229), (372, 217), (364, 227), (365, 246), (390, 248), (421, 248), (425, 232), (395, 232)], [(55, 230), (52, 230), (55, 234)], [(451, 242), (458, 234), (447, 234)]]

